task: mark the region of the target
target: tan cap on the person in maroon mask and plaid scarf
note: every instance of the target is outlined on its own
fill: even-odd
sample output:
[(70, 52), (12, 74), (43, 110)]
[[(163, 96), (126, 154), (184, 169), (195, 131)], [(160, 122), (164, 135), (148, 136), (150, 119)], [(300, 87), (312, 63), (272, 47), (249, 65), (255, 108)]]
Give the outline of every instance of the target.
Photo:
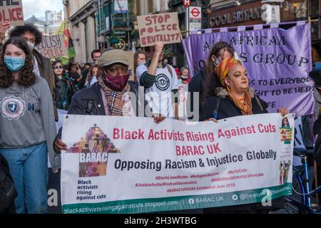
[(123, 63), (129, 66), (127, 53), (122, 50), (114, 49), (111, 51), (105, 51), (101, 58), (98, 59), (99, 66), (109, 66), (113, 63)]

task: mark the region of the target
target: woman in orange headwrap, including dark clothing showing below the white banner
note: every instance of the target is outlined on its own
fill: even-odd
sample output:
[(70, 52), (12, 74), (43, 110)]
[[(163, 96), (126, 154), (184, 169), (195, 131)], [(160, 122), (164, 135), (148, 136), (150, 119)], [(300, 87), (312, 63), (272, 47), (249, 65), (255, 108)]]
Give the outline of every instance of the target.
[[(267, 113), (267, 103), (254, 94), (249, 88), (248, 72), (242, 63), (234, 58), (224, 58), (215, 68), (215, 74), (222, 87), (215, 89), (215, 95), (203, 103), (200, 120), (221, 120), (238, 115), (253, 115)], [(282, 115), (289, 111), (286, 108), (278, 110)], [(277, 171), (277, 170), (275, 170)], [(205, 213), (268, 213), (272, 209), (284, 206), (284, 199), (272, 200), (272, 207), (261, 203), (241, 204), (231, 207), (203, 209)]]

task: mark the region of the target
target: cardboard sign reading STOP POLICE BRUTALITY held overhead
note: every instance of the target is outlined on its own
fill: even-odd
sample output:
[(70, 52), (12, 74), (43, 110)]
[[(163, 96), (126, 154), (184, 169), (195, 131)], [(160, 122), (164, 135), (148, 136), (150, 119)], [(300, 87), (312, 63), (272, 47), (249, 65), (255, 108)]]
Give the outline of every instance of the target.
[(177, 12), (137, 16), (137, 20), (142, 47), (154, 46), (159, 41), (164, 44), (180, 43)]

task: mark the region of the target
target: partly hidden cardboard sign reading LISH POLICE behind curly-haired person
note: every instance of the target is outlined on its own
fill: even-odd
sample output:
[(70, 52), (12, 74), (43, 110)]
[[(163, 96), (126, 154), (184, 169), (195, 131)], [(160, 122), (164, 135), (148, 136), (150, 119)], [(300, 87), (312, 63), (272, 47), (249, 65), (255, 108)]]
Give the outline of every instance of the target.
[(50, 59), (66, 56), (67, 53), (67, 48), (63, 42), (62, 34), (44, 36), (44, 38), (42, 38), (42, 42), (36, 46), (36, 49), (41, 53), (41, 55)]

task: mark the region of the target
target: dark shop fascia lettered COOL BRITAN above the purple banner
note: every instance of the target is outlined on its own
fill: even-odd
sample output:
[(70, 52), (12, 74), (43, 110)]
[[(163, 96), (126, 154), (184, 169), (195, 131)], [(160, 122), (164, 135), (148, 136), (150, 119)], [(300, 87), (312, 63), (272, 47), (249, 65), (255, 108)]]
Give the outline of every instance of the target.
[[(280, 23), (307, 19), (307, 0), (301, 1), (222, 1), (211, 0), (209, 28)], [(272, 6), (270, 9), (267, 5)], [(268, 15), (270, 19), (268, 19)]]

